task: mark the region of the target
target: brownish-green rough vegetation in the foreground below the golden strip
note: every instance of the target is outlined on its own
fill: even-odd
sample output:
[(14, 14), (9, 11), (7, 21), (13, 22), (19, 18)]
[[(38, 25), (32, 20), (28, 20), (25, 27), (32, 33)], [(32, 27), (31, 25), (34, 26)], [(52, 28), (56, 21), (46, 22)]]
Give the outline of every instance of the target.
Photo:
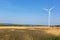
[(42, 30), (0, 29), (0, 40), (60, 40), (60, 36)]

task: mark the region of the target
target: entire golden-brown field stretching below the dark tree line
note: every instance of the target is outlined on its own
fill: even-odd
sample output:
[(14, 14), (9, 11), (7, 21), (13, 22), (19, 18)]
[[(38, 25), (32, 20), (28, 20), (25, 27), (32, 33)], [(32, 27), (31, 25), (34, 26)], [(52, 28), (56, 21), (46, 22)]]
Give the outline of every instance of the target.
[(60, 27), (0, 26), (0, 40), (60, 40), (59, 35)]

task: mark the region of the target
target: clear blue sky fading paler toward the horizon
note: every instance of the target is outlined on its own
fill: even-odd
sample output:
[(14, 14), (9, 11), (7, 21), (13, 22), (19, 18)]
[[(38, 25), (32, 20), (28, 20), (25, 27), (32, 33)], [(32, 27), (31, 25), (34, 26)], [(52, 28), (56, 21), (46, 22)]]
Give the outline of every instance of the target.
[(60, 25), (60, 0), (0, 0), (0, 23), (48, 25), (51, 8), (51, 25)]

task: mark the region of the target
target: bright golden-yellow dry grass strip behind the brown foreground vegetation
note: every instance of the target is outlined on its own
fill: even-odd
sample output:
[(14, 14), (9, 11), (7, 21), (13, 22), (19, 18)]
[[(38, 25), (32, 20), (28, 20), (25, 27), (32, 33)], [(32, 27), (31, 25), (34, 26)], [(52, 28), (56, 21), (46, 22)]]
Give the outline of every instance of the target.
[(47, 27), (47, 26), (35, 26), (35, 27), (30, 27), (30, 26), (0, 26), (0, 29), (28, 29), (28, 30), (43, 30), (46, 33), (51, 33), (54, 35), (59, 35), (60, 34), (60, 27)]

